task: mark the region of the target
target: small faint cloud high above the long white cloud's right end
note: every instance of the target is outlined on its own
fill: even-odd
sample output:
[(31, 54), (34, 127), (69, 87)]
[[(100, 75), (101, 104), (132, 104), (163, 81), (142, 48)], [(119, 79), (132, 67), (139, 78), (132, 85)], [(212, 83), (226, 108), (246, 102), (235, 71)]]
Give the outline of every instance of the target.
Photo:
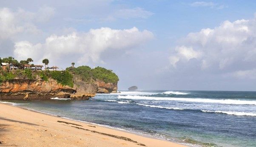
[(153, 15), (154, 13), (146, 11), (143, 8), (132, 8), (132, 9), (120, 9), (116, 11), (113, 15), (117, 18), (129, 19), (129, 18), (142, 18), (146, 19)]

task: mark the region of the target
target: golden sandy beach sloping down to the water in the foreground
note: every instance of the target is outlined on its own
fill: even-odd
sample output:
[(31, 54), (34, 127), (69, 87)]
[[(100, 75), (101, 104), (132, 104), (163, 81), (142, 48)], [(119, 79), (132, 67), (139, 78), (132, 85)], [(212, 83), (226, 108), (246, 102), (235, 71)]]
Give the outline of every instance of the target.
[(0, 104), (0, 142), (19, 147), (184, 147), (6, 104)]

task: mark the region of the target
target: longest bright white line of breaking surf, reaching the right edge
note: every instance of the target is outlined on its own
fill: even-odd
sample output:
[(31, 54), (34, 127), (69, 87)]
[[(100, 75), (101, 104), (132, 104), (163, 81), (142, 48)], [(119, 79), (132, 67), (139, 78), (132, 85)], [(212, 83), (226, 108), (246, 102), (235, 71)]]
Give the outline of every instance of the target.
[(145, 99), (156, 101), (182, 101), (182, 102), (203, 102), (221, 103), (231, 105), (256, 105), (256, 101), (236, 100), (236, 99), (201, 99), (201, 98), (171, 98), (171, 97), (149, 97), (149, 96), (118, 96), (118, 99)]

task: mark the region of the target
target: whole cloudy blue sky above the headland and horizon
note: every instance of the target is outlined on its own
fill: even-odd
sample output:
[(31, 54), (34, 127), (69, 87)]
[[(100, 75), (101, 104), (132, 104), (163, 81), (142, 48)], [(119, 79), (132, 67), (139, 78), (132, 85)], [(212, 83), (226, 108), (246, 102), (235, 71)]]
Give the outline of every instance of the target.
[(1, 0), (0, 57), (101, 66), (119, 90), (256, 90), (254, 0)]

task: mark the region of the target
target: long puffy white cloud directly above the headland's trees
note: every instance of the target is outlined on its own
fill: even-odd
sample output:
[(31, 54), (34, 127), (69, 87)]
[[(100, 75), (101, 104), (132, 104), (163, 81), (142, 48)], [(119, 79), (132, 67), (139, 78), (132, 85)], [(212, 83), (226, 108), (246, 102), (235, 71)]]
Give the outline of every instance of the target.
[(31, 44), (28, 41), (15, 43), (14, 57), (26, 59), (32, 57), (41, 62), (48, 58), (53, 64), (60, 64), (59, 59), (72, 58), (80, 64), (104, 62), (101, 54), (105, 51), (127, 50), (137, 47), (153, 38), (150, 31), (137, 28), (115, 30), (111, 28), (91, 29), (87, 33), (51, 35), (44, 43)]

